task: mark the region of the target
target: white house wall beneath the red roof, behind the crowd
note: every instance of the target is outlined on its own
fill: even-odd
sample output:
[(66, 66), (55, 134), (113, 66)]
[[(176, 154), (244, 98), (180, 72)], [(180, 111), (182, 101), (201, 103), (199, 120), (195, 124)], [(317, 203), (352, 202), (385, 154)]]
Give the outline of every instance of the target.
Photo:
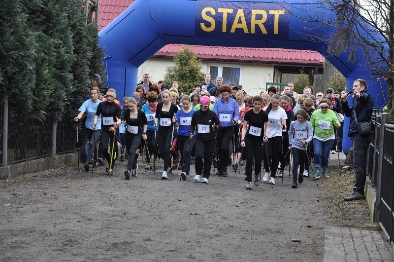
[[(149, 74), (153, 82), (157, 83), (164, 79), (165, 69), (174, 66), (175, 62), (172, 59), (151, 58), (145, 61), (138, 68), (138, 81), (142, 81), (143, 74)], [(262, 90), (265, 90), (265, 83), (272, 82), (274, 78), (274, 70), (272, 66), (253, 65), (253, 64), (235, 64), (235, 63), (201, 63), (201, 72), (209, 70), (210, 66), (224, 66), (224, 67), (239, 67), (240, 84), (249, 95), (259, 95)], [(203, 79), (201, 79), (202, 82)], [(171, 83), (168, 83), (171, 86)], [(182, 87), (182, 83), (180, 83)]]

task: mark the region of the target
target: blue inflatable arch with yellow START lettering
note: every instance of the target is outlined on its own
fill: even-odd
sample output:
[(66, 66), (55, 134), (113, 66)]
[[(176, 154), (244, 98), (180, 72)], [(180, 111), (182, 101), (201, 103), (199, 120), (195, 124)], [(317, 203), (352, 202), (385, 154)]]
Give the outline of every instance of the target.
[[(375, 107), (384, 106), (387, 83), (377, 80), (373, 68), (365, 66), (368, 61), (361, 48), (355, 63), (348, 61), (348, 53), (328, 53), (328, 42), (322, 39), (335, 32), (329, 26), (335, 14), (329, 10), (313, 0), (136, 0), (99, 33), (109, 86), (119, 97), (130, 95), (136, 87), (138, 67), (169, 43), (273, 47), (319, 52), (346, 77), (347, 91), (355, 79), (363, 78)], [(306, 22), (316, 21), (309, 12), (321, 22)], [(351, 147), (346, 139), (348, 119), (344, 124), (343, 150), (347, 153)]]

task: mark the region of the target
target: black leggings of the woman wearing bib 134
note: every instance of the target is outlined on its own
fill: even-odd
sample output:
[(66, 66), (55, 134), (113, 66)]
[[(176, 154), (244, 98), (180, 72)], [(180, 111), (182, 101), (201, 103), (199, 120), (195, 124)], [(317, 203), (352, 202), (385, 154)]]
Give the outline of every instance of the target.
[(229, 144), (232, 136), (234, 135), (234, 128), (232, 126), (223, 127), (222, 129), (217, 130), (216, 133), (220, 161), (218, 163), (218, 171), (225, 172), (229, 164)]

